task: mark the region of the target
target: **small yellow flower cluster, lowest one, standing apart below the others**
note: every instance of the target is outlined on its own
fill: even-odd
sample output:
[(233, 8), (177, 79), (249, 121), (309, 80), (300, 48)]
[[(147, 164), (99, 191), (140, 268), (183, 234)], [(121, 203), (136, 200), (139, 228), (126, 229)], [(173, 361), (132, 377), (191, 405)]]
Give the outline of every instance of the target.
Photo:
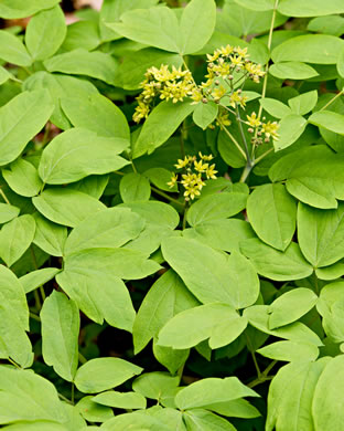
[(181, 174), (181, 180), (179, 175), (172, 174), (171, 181), (168, 186), (173, 188), (178, 182), (184, 187), (185, 201), (195, 199), (196, 196), (201, 195), (202, 188), (206, 185), (205, 179), (216, 179), (217, 170), (215, 170), (215, 164), (209, 165), (208, 161), (213, 160), (213, 156), (204, 156), (198, 153), (200, 159), (196, 156), (185, 156), (184, 159), (179, 159), (176, 169), (183, 169), (184, 174)]

